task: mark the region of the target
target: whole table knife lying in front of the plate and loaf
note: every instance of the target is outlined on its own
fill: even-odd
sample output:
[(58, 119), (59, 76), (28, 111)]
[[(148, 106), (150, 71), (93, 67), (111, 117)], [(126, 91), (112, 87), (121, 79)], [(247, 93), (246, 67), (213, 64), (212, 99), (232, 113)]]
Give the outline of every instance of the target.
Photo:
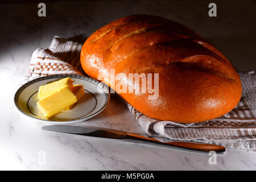
[(225, 153), (225, 147), (218, 146), (216, 144), (194, 143), (194, 142), (160, 142), (160, 140), (158, 139), (151, 138), (151, 137), (144, 137), (138, 134), (131, 134), (131, 133), (125, 133), (122, 131), (114, 131), (114, 130), (100, 130), (93, 127), (47, 125), (47, 126), (43, 126), (42, 129), (47, 131), (56, 131), (60, 133), (84, 135), (88, 137), (139, 140), (142, 142), (150, 142), (150, 143), (162, 144), (165, 146), (185, 148), (193, 151), (202, 151), (202, 152), (214, 151), (218, 154)]

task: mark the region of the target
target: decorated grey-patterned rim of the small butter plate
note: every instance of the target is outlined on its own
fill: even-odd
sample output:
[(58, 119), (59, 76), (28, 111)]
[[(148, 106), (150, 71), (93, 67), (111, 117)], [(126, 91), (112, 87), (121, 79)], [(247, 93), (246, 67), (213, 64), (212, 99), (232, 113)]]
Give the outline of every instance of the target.
[[(39, 82), (39, 81), (43, 81), (43, 80), (49, 80), (49, 79), (52, 79), (52, 78), (65, 78), (65, 77), (71, 77), (71, 78), (77, 78), (77, 79), (80, 79), (80, 80), (85, 80), (85, 81), (88, 81), (98, 87), (100, 87), (106, 98), (108, 98), (105, 103), (104, 103), (104, 106), (101, 107), (100, 110), (98, 110), (96, 113), (92, 114), (92, 115), (89, 115), (88, 117), (85, 117), (85, 118), (80, 118), (80, 119), (71, 119), (71, 120), (67, 120), (67, 121), (51, 121), (51, 120), (47, 120), (47, 119), (40, 119), (40, 118), (35, 118), (35, 117), (32, 117), (31, 115), (28, 115), (26, 113), (24, 113), (18, 106), (18, 99), (19, 99), (19, 96), (20, 96), (20, 93), (23, 92), (24, 89), (26, 89), (28, 86), (34, 84), (35, 82)], [(109, 89), (105, 86), (105, 84), (101, 81), (98, 81), (98, 80), (95, 80), (91, 77), (88, 77), (88, 76), (82, 76), (82, 75), (76, 75), (76, 74), (56, 74), (56, 75), (47, 75), (47, 76), (43, 76), (43, 77), (39, 77), (39, 78), (35, 78), (34, 80), (31, 80), (31, 81), (28, 81), (26, 82), (25, 84), (23, 84), (22, 86), (19, 87), (18, 90), (16, 90), (15, 94), (14, 94), (14, 104), (16, 106), (16, 108), (20, 111), (20, 113), (26, 115), (27, 117), (30, 117), (32, 119), (38, 119), (42, 122), (48, 122), (48, 123), (72, 123), (72, 122), (79, 122), (79, 121), (86, 121), (87, 119), (89, 118), (92, 118), (94, 117), (95, 115), (101, 113), (101, 111), (103, 111), (106, 106), (109, 104), (109, 101), (110, 101), (110, 93), (109, 93)]]

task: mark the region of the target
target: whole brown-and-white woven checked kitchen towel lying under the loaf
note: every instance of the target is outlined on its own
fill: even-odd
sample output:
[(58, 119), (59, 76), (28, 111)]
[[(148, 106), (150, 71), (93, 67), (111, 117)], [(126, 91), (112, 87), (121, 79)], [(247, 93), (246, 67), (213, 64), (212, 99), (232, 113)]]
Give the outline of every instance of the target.
[[(38, 48), (32, 53), (22, 84), (46, 75), (84, 75), (80, 64), (81, 47), (80, 43), (55, 36), (49, 48)], [(243, 86), (241, 101), (232, 111), (217, 119), (189, 124), (158, 121), (129, 104), (127, 107), (147, 134), (162, 142), (189, 140), (256, 151), (256, 76), (254, 71), (239, 74)]]

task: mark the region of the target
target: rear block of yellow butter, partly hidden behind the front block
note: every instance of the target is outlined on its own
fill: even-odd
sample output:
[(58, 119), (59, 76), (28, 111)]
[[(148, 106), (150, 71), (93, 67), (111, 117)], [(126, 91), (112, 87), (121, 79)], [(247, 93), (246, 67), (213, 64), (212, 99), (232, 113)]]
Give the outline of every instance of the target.
[(68, 87), (70, 90), (73, 88), (73, 80), (70, 77), (63, 78), (59, 81), (54, 81), (46, 85), (42, 85), (38, 90), (38, 98), (42, 100), (51, 94), (57, 92), (58, 90)]

